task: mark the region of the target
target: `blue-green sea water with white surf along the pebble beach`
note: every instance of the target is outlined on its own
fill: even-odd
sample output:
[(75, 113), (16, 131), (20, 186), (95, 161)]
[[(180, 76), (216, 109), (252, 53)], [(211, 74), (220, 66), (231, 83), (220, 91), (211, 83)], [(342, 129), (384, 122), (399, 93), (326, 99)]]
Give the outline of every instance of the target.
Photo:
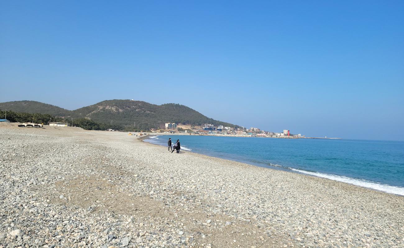
[(155, 135), (146, 142), (404, 196), (404, 142)]

